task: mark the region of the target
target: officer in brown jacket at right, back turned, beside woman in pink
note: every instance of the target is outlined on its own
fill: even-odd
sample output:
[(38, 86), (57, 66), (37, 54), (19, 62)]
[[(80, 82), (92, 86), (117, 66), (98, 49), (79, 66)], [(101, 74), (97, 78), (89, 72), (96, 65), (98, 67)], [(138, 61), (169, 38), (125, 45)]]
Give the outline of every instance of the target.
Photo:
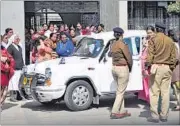
[[(165, 25), (156, 23), (156, 37), (148, 46), (145, 68), (150, 69), (150, 111), (149, 122), (167, 121), (169, 110), (169, 94), (172, 71), (176, 64), (175, 45), (171, 38), (164, 34)], [(158, 99), (161, 96), (161, 112), (158, 114)]]

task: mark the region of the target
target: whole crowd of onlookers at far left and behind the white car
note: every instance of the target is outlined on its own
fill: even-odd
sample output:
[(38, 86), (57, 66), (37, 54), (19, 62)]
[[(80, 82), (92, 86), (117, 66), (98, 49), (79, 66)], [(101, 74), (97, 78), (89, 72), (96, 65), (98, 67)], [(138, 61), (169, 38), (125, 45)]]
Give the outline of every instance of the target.
[(18, 83), (21, 70), (25, 64), (70, 56), (77, 46), (76, 36), (101, 32), (104, 32), (103, 24), (86, 27), (83, 27), (80, 23), (77, 23), (76, 27), (61, 24), (58, 28), (50, 23), (49, 25), (43, 24), (38, 31), (32, 28), (26, 29), (26, 59), (24, 61), (19, 35), (14, 34), (12, 28), (5, 29), (4, 35), (1, 35), (1, 106), (8, 91), (12, 102), (23, 100), (19, 93)]

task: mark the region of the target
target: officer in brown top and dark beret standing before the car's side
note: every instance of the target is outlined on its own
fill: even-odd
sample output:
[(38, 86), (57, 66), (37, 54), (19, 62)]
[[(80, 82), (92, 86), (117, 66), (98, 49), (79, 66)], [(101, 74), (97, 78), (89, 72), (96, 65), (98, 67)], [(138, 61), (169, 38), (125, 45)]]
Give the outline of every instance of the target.
[(124, 110), (124, 93), (129, 80), (129, 72), (132, 68), (132, 55), (128, 45), (123, 42), (123, 29), (116, 27), (113, 31), (116, 40), (112, 43), (109, 55), (112, 56), (112, 74), (118, 86), (110, 117), (111, 119), (119, 119), (131, 116), (130, 113)]

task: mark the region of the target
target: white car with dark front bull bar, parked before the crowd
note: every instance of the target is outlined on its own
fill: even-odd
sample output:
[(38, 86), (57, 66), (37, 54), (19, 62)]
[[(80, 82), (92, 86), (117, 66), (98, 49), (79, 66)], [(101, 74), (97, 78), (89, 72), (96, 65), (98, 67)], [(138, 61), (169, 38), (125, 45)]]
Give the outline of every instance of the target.
[[(133, 67), (127, 92), (143, 89), (140, 55), (145, 31), (125, 31), (124, 41), (133, 55)], [(112, 58), (108, 56), (114, 40), (113, 32), (82, 36), (70, 57), (31, 64), (23, 68), (20, 92), (42, 104), (54, 104), (64, 99), (73, 111), (99, 104), (99, 97), (116, 92), (111, 73)]]

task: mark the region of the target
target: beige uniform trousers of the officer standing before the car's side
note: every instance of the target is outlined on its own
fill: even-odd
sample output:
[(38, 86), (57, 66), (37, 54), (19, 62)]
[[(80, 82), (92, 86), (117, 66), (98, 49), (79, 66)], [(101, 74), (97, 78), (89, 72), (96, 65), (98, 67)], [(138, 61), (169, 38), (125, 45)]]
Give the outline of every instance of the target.
[(129, 80), (129, 68), (128, 66), (113, 66), (112, 74), (117, 82), (116, 99), (112, 113), (124, 113), (124, 93)]

